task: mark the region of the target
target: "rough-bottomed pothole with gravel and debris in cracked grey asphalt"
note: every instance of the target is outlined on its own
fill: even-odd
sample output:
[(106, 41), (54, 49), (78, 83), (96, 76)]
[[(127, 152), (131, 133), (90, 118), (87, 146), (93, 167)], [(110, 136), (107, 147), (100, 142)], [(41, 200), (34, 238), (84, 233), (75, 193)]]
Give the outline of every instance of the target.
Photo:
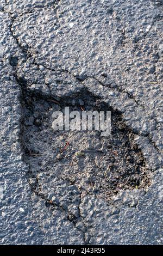
[[(81, 103), (82, 102), (82, 103)], [(82, 105), (82, 107), (81, 107)], [(54, 131), (54, 111), (111, 111), (111, 136), (99, 131)], [(123, 123), (121, 114), (86, 90), (62, 97), (50, 97), (23, 89), (24, 161), (29, 165), (33, 191), (76, 211), (80, 194), (94, 194), (106, 202), (120, 190), (149, 185), (146, 162), (134, 142), (134, 134)]]

